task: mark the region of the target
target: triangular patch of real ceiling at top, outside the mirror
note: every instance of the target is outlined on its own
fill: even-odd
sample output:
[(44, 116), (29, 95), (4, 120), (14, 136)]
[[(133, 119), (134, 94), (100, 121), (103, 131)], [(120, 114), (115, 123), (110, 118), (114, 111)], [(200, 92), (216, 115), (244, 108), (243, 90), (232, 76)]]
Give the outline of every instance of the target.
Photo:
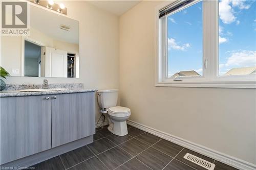
[(141, 1), (87, 1), (88, 3), (117, 16), (124, 14)]

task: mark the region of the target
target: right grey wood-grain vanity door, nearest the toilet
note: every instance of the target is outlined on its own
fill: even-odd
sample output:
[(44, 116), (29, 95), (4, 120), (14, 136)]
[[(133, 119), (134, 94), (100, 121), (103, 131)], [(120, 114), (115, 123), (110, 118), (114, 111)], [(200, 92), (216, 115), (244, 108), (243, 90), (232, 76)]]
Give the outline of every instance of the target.
[(94, 92), (52, 95), (52, 147), (95, 133)]

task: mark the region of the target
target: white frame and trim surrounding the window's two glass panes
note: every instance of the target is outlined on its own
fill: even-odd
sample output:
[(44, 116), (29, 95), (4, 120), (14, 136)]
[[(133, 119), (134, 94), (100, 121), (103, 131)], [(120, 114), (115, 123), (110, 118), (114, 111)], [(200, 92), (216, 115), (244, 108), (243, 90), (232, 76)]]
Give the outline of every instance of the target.
[[(164, 2), (156, 7), (155, 24), (155, 86), (164, 87), (214, 87), (214, 88), (256, 88), (256, 75), (219, 76), (219, 2), (203, 1), (203, 75), (181, 77), (174, 81), (167, 77), (167, 17), (159, 19), (159, 10), (182, 1)], [(195, 1), (197, 3), (198, 1)], [(190, 5), (194, 5), (190, 4)], [(187, 6), (186, 6), (187, 7)], [(185, 7), (185, 8), (186, 8)], [(179, 9), (179, 11), (182, 10)], [(207, 34), (205, 34), (207, 33)], [(167, 54), (167, 53), (166, 53)]]

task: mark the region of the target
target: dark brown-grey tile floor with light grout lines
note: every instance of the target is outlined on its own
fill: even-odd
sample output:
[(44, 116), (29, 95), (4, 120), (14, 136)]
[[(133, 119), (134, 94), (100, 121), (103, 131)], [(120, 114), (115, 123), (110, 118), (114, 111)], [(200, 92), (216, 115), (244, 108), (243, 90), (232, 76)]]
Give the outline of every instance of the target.
[(127, 125), (128, 135), (113, 135), (104, 127), (96, 129), (94, 142), (34, 165), (35, 169), (165, 169), (205, 168), (183, 158), (188, 152), (215, 163), (215, 170), (234, 170), (231, 166)]

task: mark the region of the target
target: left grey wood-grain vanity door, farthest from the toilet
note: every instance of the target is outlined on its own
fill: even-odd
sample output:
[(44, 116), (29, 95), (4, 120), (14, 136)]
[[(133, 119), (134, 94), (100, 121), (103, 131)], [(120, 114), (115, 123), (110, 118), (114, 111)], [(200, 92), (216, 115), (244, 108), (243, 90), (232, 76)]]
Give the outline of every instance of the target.
[(20, 96), (0, 101), (1, 164), (51, 149), (50, 96)]

